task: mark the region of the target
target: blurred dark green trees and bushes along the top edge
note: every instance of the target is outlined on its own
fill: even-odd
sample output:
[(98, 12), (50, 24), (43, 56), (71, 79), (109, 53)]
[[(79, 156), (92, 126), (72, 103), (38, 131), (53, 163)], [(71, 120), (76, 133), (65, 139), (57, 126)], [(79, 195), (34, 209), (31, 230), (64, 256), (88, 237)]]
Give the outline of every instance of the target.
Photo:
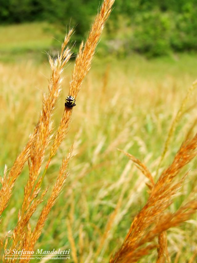
[[(75, 27), (75, 39), (80, 42), (88, 31), (100, 0), (0, 0), (0, 22), (22, 23), (48, 21), (59, 25), (62, 37), (65, 26)], [(117, 39), (122, 32), (119, 52), (131, 51), (148, 56), (166, 55), (171, 51), (197, 50), (196, 0), (115, 0), (107, 34)], [(122, 20), (120, 20), (122, 18)], [(124, 35), (127, 23), (127, 34)], [(61, 36), (55, 38), (60, 39)], [(112, 44), (113, 45), (113, 44)], [(105, 45), (106, 52), (111, 47)], [(114, 48), (117, 49), (117, 48)], [(112, 48), (113, 51), (113, 48)], [(117, 50), (116, 50), (117, 51)]]

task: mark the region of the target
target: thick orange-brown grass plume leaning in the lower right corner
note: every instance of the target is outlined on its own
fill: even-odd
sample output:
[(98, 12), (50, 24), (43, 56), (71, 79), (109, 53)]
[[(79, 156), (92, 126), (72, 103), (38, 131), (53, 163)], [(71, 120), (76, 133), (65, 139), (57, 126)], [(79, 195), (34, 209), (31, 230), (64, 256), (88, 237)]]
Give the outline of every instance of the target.
[[(138, 261), (151, 249), (158, 247), (155, 243), (146, 245), (147, 242), (152, 242), (156, 236), (159, 236), (158, 262), (164, 262), (166, 258), (168, 259), (166, 233), (163, 231), (188, 220), (197, 209), (197, 201), (191, 200), (175, 213), (166, 212), (187, 174), (178, 183), (174, 183), (173, 179), (196, 156), (196, 153), (197, 134), (192, 139), (183, 142), (171, 165), (163, 171), (157, 183), (153, 185), (147, 203), (135, 216), (123, 245), (111, 257), (111, 263)], [(144, 168), (145, 165), (132, 155), (127, 153), (126, 155), (147, 176), (148, 170)], [(151, 179), (149, 173), (147, 177)]]

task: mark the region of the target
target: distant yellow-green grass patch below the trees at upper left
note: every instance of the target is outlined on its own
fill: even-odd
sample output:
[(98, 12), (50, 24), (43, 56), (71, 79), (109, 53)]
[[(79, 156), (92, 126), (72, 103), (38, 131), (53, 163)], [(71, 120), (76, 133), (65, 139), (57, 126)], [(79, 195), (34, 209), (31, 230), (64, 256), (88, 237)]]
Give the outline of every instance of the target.
[(54, 26), (46, 22), (0, 26), (0, 61), (21, 61), (25, 55), (26, 59), (40, 62), (52, 48), (53, 30)]

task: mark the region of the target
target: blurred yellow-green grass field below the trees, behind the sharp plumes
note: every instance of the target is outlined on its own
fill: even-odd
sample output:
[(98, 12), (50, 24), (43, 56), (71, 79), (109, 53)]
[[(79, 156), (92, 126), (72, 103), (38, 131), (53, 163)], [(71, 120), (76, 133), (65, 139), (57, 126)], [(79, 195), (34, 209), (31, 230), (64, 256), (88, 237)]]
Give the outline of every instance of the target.
[[(11, 167), (33, 131), (41, 109), (42, 91), (47, 89), (50, 68), (47, 62), (40, 62), (40, 57), (50, 49), (52, 35), (48, 31), (43, 33), (44, 27), (45, 24), (39, 23), (0, 27), (0, 34), (5, 36), (0, 43), (1, 173), (5, 164)], [(155, 176), (171, 122), (187, 89), (197, 78), (196, 58), (196, 54), (152, 60), (136, 54), (122, 59), (94, 58), (73, 110), (70, 131), (44, 179), (52, 187), (62, 155), (66, 155), (75, 139), (76, 155), (70, 163), (66, 187), (50, 213), (36, 248), (72, 250), (70, 225), (80, 262), (109, 261), (148, 196), (147, 179), (117, 148), (142, 160)], [(54, 129), (62, 116), (73, 65), (70, 63), (64, 71), (66, 78), (61, 98), (54, 110)], [(160, 172), (170, 164), (196, 120), (196, 109), (195, 91), (186, 105)], [(176, 210), (195, 188), (196, 160), (188, 168), (191, 168), (189, 177), (181, 189), (182, 194), (171, 205), (171, 211)], [(2, 221), (1, 238), (15, 226), (27, 175), (26, 165), (4, 211), (3, 217), (7, 220)], [(103, 240), (107, 221), (121, 193), (121, 207), (111, 231)], [(38, 213), (35, 212), (31, 219), (32, 225)], [(167, 232), (172, 262), (176, 257), (176, 262), (188, 262), (196, 251), (196, 214), (192, 219)], [(154, 262), (156, 257), (154, 250), (139, 262)]]

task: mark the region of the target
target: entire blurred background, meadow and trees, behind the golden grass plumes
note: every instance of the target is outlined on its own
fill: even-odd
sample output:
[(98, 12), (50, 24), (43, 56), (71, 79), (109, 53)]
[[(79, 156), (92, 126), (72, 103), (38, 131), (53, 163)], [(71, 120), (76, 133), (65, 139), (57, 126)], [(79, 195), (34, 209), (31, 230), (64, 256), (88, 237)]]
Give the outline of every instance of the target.
[[(0, 8), (0, 171), (12, 166), (37, 122), (50, 68), (46, 52), (57, 55), (69, 25), (72, 43), (86, 36), (99, 1), (3, 1)], [(116, 0), (84, 81), (72, 123), (53, 158), (44, 184), (53, 185), (74, 138), (76, 154), (64, 191), (52, 209), (36, 248), (76, 249), (78, 262), (108, 262), (122, 244), (132, 219), (147, 200), (144, 175), (117, 148), (141, 161), (155, 179), (170, 125), (187, 89), (197, 78), (195, 1)], [(62, 94), (54, 112), (58, 126), (68, 95), (74, 57), (66, 67)], [(174, 158), (196, 121), (196, 92), (176, 127), (159, 174)], [(193, 130), (196, 131), (195, 125)], [(170, 210), (196, 188), (196, 160)], [(183, 171), (183, 172), (184, 172)], [(4, 211), (0, 237), (12, 230), (22, 205), (28, 166), (16, 181)], [(196, 191), (195, 191), (196, 192)], [(195, 194), (192, 194), (195, 196)], [(120, 196), (117, 213), (113, 214)], [(42, 204), (40, 205), (40, 209)], [(31, 224), (39, 215), (31, 218)], [(113, 215), (110, 231), (106, 230)], [(196, 214), (167, 232), (172, 262), (196, 262)], [(6, 220), (5, 220), (6, 219)], [(109, 225), (107, 226), (109, 227)], [(3, 251), (1, 250), (1, 255)], [(74, 253), (74, 252), (73, 252)], [(155, 262), (157, 252), (139, 262)], [(193, 258), (193, 261), (190, 261)], [(53, 261), (56, 262), (56, 261)], [(70, 262), (74, 261), (73, 258)]]

